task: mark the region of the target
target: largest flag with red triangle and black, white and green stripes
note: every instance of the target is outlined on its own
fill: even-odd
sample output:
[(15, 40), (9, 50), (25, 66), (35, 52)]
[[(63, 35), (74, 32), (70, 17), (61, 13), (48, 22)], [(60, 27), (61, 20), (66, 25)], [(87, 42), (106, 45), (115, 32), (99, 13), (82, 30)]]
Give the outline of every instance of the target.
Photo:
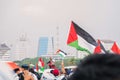
[[(82, 38), (81, 40), (84, 40), (85, 45), (87, 45), (86, 48), (89, 47), (88, 49), (85, 49), (85, 48), (79, 46), (77, 35)], [(79, 41), (79, 43), (80, 43), (80, 41)], [(71, 27), (70, 27), (67, 44), (70, 46), (76, 47), (77, 50), (86, 51), (88, 53), (90, 53), (90, 51), (88, 51), (88, 50), (93, 49), (93, 51), (94, 51), (93, 47), (96, 47), (99, 45), (96, 42), (96, 40), (88, 32), (83, 30), (80, 26), (78, 26), (73, 21), (71, 22)], [(100, 43), (100, 47), (104, 52), (107, 52), (101, 43)]]

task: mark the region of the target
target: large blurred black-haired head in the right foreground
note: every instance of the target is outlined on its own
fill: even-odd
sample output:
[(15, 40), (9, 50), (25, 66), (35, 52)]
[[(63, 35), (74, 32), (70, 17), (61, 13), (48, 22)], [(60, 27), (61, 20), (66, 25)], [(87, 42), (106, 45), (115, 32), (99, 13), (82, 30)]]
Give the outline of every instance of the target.
[(120, 55), (89, 55), (78, 64), (68, 80), (120, 80)]

